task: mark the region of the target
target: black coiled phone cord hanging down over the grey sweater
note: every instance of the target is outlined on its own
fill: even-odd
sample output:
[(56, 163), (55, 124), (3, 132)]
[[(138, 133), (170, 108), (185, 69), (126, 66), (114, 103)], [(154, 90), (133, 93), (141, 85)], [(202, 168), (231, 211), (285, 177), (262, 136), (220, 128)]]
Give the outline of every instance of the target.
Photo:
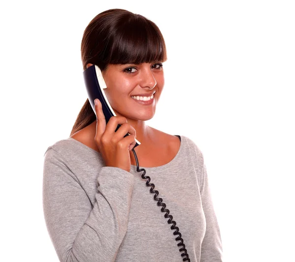
[[(183, 239), (181, 238), (181, 233), (179, 232), (179, 228), (176, 227), (176, 222), (175, 222), (174, 220), (172, 220), (172, 219), (173, 219), (173, 216), (172, 216), (172, 215), (169, 215), (170, 210), (169, 210), (168, 208), (165, 209), (165, 208), (166, 208), (166, 204), (165, 204), (165, 203), (162, 203), (162, 201), (163, 201), (162, 198), (157, 198), (157, 196), (159, 195), (159, 191), (158, 191), (158, 190), (153, 190), (153, 189), (155, 188), (155, 185), (152, 184), (152, 183), (149, 184), (150, 177), (149, 177), (149, 176), (145, 176), (145, 174), (146, 174), (146, 170), (145, 170), (144, 168), (139, 169), (138, 159), (137, 159), (137, 155), (136, 155), (136, 153), (135, 153), (134, 148), (132, 149), (132, 151), (133, 151), (133, 154), (134, 154), (134, 157), (135, 157), (135, 161), (136, 161), (136, 171), (137, 171), (137, 172), (141, 172), (141, 171), (144, 172), (144, 173), (141, 175), (141, 177), (142, 177), (143, 179), (147, 179), (147, 178), (148, 178), (148, 181), (146, 182), (146, 185), (147, 185), (147, 186), (151, 186), (151, 188), (150, 188), (150, 190), (149, 190), (150, 193), (155, 193), (155, 195), (154, 195), (154, 200), (155, 200), (155, 201), (158, 201), (157, 205), (162, 205), (161, 211), (162, 211), (162, 212), (166, 212), (166, 214), (164, 215), (165, 218), (169, 217), (169, 220), (167, 221), (167, 223), (168, 223), (168, 224), (173, 224), (173, 225), (171, 226), (171, 229), (172, 229), (172, 230), (176, 229), (176, 231), (175, 231), (173, 234), (174, 234), (174, 235), (178, 234), (178, 236), (177, 236), (177, 238), (176, 238), (176, 241), (177, 241), (177, 240), (180, 240), (180, 243), (178, 243), (177, 246), (183, 246), (182, 248), (179, 249), (179, 252), (184, 251), (184, 253), (181, 254), (181, 257), (186, 256), (185, 258), (182, 259), (182, 261), (188, 261), (188, 262), (190, 262), (190, 259), (189, 259), (189, 257), (188, 257), (188, 254), (187, 254), (187, 252), (186, 252), (187, 250), (185, 249), (185, 244), (183, 244)], [(172, 221), (172, 222), (171, 222), (171, 221)]]

